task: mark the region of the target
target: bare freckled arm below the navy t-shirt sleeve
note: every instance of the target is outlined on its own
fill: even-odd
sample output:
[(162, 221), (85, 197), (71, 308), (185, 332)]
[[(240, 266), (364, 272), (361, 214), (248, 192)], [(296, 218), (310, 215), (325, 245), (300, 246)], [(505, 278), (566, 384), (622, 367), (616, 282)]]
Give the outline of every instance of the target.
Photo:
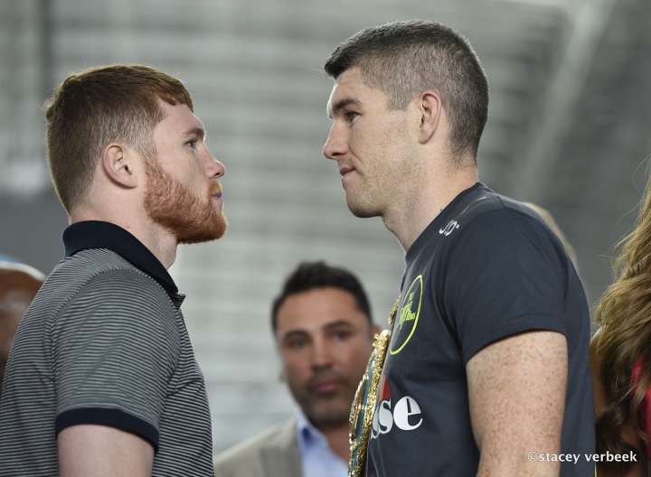
[(468, 361), (470, 416), (481, 450), (478, 476), (502, 475), (491, 469), (558, 475), (560, 462), (532, 463), (526, 456), (561, 452), (567, 360), (561, 333), (527, 332), (496, 341)]

